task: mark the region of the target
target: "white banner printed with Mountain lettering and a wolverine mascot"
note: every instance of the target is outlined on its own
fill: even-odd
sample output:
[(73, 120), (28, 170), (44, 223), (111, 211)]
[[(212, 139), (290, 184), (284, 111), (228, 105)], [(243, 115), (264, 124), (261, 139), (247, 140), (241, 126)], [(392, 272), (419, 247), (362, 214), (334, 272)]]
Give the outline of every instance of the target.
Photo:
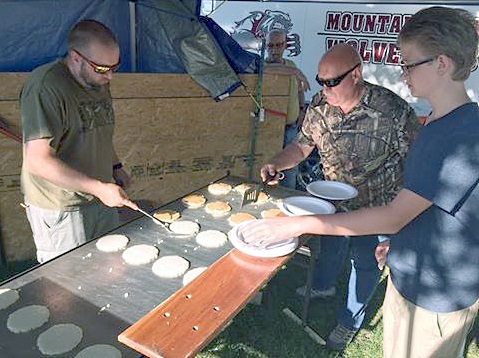
[[(219, 6), (221, 5), (221, 6)], [(238, 43), (258, 51), (258, 38), (273, 28), (288, 34), (285, 56), (304, 72), (312, 90), (309, 99), (319, 90), (315, 81), (322, 54), (339, 42), (354, 46), (364, 61), (366, 81), (380, 84), (405, 98), (418, 115), (427, 115), (429, 105), (413, 98), (401, 79), (400, 54), (396, 38), (412, 14), (428, 4), (361, 4), (331, 2), (257, 2), (203, 1), (202, 14), (211, 16)], [(464, 8), (479, 18), (479, 5), (452, 5)], [(258, 47), (259, 46), (259, 47)], [(479, 101), (479, 70), (466, 82), (469, 96)]]

